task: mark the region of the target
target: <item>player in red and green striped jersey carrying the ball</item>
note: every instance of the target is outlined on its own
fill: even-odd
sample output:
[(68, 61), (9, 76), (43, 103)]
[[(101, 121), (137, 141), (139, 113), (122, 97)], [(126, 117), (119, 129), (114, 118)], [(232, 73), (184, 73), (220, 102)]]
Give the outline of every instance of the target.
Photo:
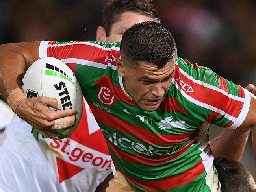
[[(71, 58), (70, 63), (65, 61), (76, 73), (107, 139), (115, 165), (113, 172), (121, 171), (137, 191), (220, 191), (208, 145), (208, 123), (230, 129), (256, 124), (254, 97), (208, 68), (178, 57), (171, 33), (160, 23), (132, 26), (124, 33), (121, 44), (41, 41), (15, 45), (21, 49), (12, 51), (12, 57), (4, 56), (10, 54), (10, 49), (2, 47), (2, 65), (6, 65), (2, 76), (7, 77), (4, 73), (10, 70), (11, 63), (28, 67), (46, 55)], [(63, 51), (67, 49), (68, 52)], [(106, 63), (109, 56), (112, 59)], [(75, 64), (72, 58), (79, 58), (79, 63)], [(93, 58), (98, 59), (98, 64), (88, 65)], [(16, 83), (9, 89), (14, 90), (15, 86), (20, 87)], [(95, 94), (101, 87), (109, 88), (113, 102), (97, 99), (101, 95)], [(32, 124), (42, 131), (50, 130), (56, 117), (41, 104), (44, 97), (25, 98), (19, 88), (10, 94), (8, 86), (2, 90), (4, 96), (9, 95), (8, 101), (17, 114), (26, 117), (31, 113)], [(13, 97), (14, 93), (19, 97)], [(57, 107), (55, 99), (44, 99), (44, 103)], [(26, 110), (23, 105), (28, 105)], [(105, 105), (108, 111), (101, 107)], [(73, 113), (65, 111), (68, 116)], [(43, 121), (39, 114), (45, 116)], [(59, 118), (65, 115), (58, 113)]]

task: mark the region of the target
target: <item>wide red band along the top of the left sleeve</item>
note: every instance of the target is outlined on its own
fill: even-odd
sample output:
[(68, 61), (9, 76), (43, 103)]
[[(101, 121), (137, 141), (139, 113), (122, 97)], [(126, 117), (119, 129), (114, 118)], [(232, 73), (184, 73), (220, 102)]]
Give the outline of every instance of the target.
[[(74, 41), (74, 43), (75, 42), (85, 41)], [(49, 42), (49, 44), (51, 45), (54, 45), (55, 43), (56, 42), (54, 41)], [(47, 54), (57, 59), (78, 58), (102, 63), (104, 65), (108, 65), (109, 61), (105, 61), (105, 59), (110, 54), (115, 55), (115, 57), (119, 57), (120, 55), (119, 51), (116, 50), (106, 51), (101, 48), (85, 44), (72, 44), (65, 46), (49, 47), (47, 48)], [(116, 65), (116, 62), (112, 61), (111, 64)]]

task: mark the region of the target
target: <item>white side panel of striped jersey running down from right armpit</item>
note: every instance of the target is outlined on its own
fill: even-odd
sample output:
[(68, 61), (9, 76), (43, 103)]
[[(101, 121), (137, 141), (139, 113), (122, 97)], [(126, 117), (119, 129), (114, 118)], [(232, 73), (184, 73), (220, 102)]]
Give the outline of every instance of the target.
[(200, 127), (199, 137), (197, 142), (198, 148), (201, 151), (200, 156), (206, 171), (206, 185), (209, 186), (212, 192), (216, 192), (218, 189), (218, 177), (214, 174), (213, 169), (213, 155), (210, 155), (209, 136), (208, 136), (208, 124), (202, 124)]

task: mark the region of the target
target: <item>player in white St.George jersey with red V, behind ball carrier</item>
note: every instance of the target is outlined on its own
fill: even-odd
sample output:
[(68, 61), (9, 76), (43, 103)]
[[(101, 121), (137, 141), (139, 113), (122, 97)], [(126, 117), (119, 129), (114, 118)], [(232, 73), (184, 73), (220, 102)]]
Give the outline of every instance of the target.
[[(102, 13), (96, 40), (108, 43), (121, 41), (124, 31), (136, 23), (158, 20), (151, 0), (109, 1)], [(0, 143), (0, 191), (89, 192), (111, 174), (104, 137), (85, 101), (81, 123), (69, 138), (44, 138), (15, 116)], [(109, 179), (97, 190), (103, 191)]]

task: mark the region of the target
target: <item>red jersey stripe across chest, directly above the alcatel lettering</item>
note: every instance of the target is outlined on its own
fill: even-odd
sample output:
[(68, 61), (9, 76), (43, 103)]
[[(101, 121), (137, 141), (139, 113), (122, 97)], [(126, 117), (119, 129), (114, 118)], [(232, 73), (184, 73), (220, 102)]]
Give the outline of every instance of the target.
[(147, 144), (152, 145), (160, 145), (160, 146), (171, 146), (175, 144), (179, 144), (190, 138), (193, 132), (189, 133), (182, 133), (179, 135), (169, 134), (169, 135), (162, 135), (162, 134), (155, 134), (152, 133), (150, 130), (136, 126), (135, 124), (131, 124), (125, 120), (117, 118), (112, 114), (105, 112), (104, 110), (95, 107), (91, 103), (89, 103), (91, 110), (93, 111), (93, 115), (95, 118), (102, 122), (102, 124), (116, 129), (122, 133), (132, 135), (134, 137), (143, 140)]

